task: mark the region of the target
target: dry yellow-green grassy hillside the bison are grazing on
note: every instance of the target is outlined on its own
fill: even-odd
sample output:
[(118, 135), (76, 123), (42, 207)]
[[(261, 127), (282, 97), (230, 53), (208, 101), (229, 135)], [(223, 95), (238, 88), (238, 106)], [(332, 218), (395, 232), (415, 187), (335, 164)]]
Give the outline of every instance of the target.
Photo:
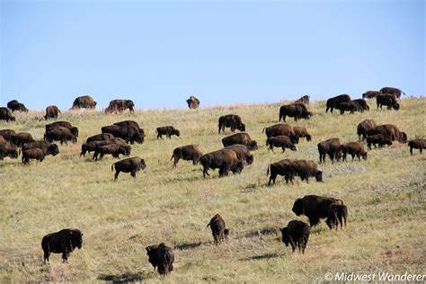
[[(11, 280), (149, 280), (162, 281), (147, 262), (145, 247), (166, 242), (173, 245), (174, 271), (170, 282), (251, 281), (282, 282), (323, 280), (326, 272), (388, 271), (419, 273), (426, 270), (425, 157), (411, 156), (406, 144), (368, 152), (368, 160), (321, 164), (324, 182), (286, 185), (277, 179), (268, 187), (267, 165), (286, 157), (318, 161), (316, 144), (339, 137), (356, 141), (361, 120), (394, 123), (409, 138), (426, 137), (426, 99), (404, 99), (400, 111), (371, 111), (339, 115), (324, 113), (324, 102), (310, 105), (311, 120), (293, 121), (305, 126), (313, 141), (302, 139), (297, 152), (277, 149), (269, 153), (264, 127), (278, 123), (280, 104), (238, 105), (196, 111), (136, 111), (105, 116), (101, 111), (66, 112), (80, 129), (77, 144), (59, 146), (60, 154), (30, 166), (20, 159), (0, 161), (0, 281)], [(217, 118), (239, 114), (246, 130), (258, 141), (254, 163), (239, 175), (205, 180), (202, 167), (180, 161), (172, 169), (173, 148), (198, 143), (206, 152), (217, 150), (224, 135), (217, 134)], [(30, 132), (42, 138), (44, 121), (31, 120), (40, 113), (18, 115), (17, 122), (0, 122), (0, 129)], [(137, 120), (146, 131), (146, 142), (132, 146), (131, 155), (146, 160), (146, 172), (136, 179), (120, 173), (113, 181), (106, 156), (93, 162), (79, 157), (81, 142), (104, 125)], [(156, 140), (155, 128), (173, 125), (181, 137)], [(21, 156), (20, 156), (21, 158)], [(344, 200), (349, 223), (342, 231), (330, 231), (324, 220), (316, 226), (305, 255), (291, 253), (280, 242), (280, 227), (302, 219), (291, 211), (293, 202), (306, 194)], [(206, 225), (220, 213), (231, 229), (226, 244), (212, 244)], [(82, 250), (63, 264), (52, 254), (42, 262), (43, 235), (59, 229), (79, 228)]]

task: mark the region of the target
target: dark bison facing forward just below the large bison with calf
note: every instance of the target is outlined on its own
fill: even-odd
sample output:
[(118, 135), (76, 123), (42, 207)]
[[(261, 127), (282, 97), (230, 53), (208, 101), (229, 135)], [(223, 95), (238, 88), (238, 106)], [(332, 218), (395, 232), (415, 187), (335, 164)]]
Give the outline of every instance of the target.
[(293, 253), (296, 248), (299, 253), (305, 253), (307, 240), (309, 239), (309, 234), (311, 228), (305, 222), (292, 220), (288, 222), (286, 227), (281, 229), (282, 242), (288, 246), (291, 244), (291, 249)]

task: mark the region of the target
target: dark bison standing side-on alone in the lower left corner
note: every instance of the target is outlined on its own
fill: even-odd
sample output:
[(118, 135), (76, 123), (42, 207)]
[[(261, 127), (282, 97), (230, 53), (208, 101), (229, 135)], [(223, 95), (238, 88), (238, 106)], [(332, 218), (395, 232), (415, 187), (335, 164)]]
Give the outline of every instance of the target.
[(44, 252), (44, 262), (48, 261), (50, 253), (62, 253), (62, 261), (67, 262), (68, 256), (76, 247), (83, 246), (83, 233), (80, 230), (63, 229), (57, 233), (43, 236), (41, 248)]

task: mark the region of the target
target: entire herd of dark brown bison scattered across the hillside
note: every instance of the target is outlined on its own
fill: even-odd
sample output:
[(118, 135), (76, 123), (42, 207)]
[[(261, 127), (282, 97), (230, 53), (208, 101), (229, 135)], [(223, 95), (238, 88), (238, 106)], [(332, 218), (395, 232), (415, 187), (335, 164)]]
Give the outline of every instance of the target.
[[(401, 90), (396, 88), (382, 88), (380, 91), (368, 91), (362, 95), (362, 99), (351, 100), (350, 95), (342, 94), (333, 97), (326, 102), (326, 110), (333, 112), (333, 109), (353, 113), (354, 111), (368, 111), (368, 103), (365, 99), (376, 98), (377, 108), (386, 106), (387, 109), (399, 110), (400, 104), (396, 99), (400, 98)], [(186, 101), (190, 109), (197, 109), (200, 101), (191, 96)], [(286, 104), (280, 107), (279, 121), (286, 121), (287, 117), (294, 120), (309, 120), (313, 113), (307, 109), (309, 96), (303, 96), (296, 102)], [(86, 108), (94, 109), (96, 102), (90, 96), (76, 98), (72, 109)], [(129, 109), (134, 111), (134, 103), (129, 100), (113, 100), (105, 110), (106, 113), (120, 112)], [(17, 101), (7, 104), (7, 108), (0, 108), (0, 120), (14, 121), (13, 111), (28, 111), (25, 106)], [(45, 119), (57, 119), (58, 107), (49, 106), (46, 108)], [(254, 141), (248, 133), (245, 133), (246, 126), (242, 118), (235, 114), (227, 114), (218, 118), (218, 133), (225, 132), (229, 128), (232, 135), (222, 138), (223, 148), (204, 153), (203, 147), (197, 144), (178, 146), (174, 148), (171, 160), (175, 168), (179, 160), (192, 161), (192, 164), (201, 164), (202, 175), (204, 178), (209, 176), (209, 170), (218, 169), (219, 177), (232, 173), (242, 173), (244, 166), (253, 164), (253, 154), (251, 152), (259, 148), (258, 143)], [(61, 145), (67, 142), (76, 143), (78, 138), (78, 128), (67, 121), (55, 121), (45, 126), (44, 139), (35, 141), (30, 133), (15, 132), (12, 129), (0, 130), (0, 160), (9, 156), (17, 158), (22, 152), (22, 163), (29, 164), (31, 159), (43, 161), (47, 155), (58, 155), (59, 148), (54, 142), (60, 142)], [(235, 130), (241, 131), (234, 133)], [(142, 144), (145, 141), (145, 131), (141, 129), (137, 121), (125, 120), (116, 122), (112, 125), (104, 126), (102, 133), (95, 134), (86, 139), (81, 146), (81, 155), (93, 152), (93, 160), (102, 160), (104, 155), (111, 155), (114, 158), (120, 158), (120, 155), (129, 156), (131, 146), (134, 143)], [(368, 150), (371, 146), (383, 147), (390, 146), (394, 141), (407, 143), (407, 135), (393, 124), (377, 125), (374, 120), (363, 120), (359, 123), (356, 132), (359, 141), (342, 143), (340, 138), (328, 138), (317, 144), (319, 154), (319, 164), (324, 164), (328, 155), (332, 162), (340, 160), (346, 161), (347, 156), (351, 155), (351, 160), (358, 158), (361, 161), (367, 160)], [(181, 131), (173, 126), (158, 127), (155, 129), (156, 138), (171, 138), (172, 136), (181, 136)], [(293, 127), (285, 123), (271, 125), (262, 129), (266, 135), (266, 146), (268, 151), (274, 152), (274, 147), (279, 147), (284, 152), (286, 149), (297, 151), (297, 144), (300, 138), (306, 138), (306, 142), (312, 140), (311, 135), (305, 127)], [(367, 148), (364, 146), (367, 143)], [(130, 145), (129, 145), (130, 144)], [(410, 154), (413, 155), (413, 149), (422, 149), (426, 147), (426, 139), (417, 138), (408, 141)], [(115, 170), (114, 181), (120, 173), (130, 173), (136, 177), (136, 173), (146, 169), (144, 159), (134, 156), (124, 158), (111, 165), (111, 170)], [(287, 158), (278, 162), (271, 163), (267, 167), (269, 175), (268, 186), (275, 184), (278, 175), (282, 176), (286, 183), (293, 183), (295, 177), (301, 181), (309, 182), (309, 178), (315, 178), (316, 182), (324, 182), (323, 171), (319, 169), (318, 164), (313, 160), (300, 160)], [(348, 209), (342, 200), (331, 197), (322, 197), (317, 195), (306, 195), (294, 202), (292, 211), (297, 215), (304, 215), (308, 218), (309, 224), (300, 220), (291, 220), (286, 227), (281, 230), (282, 242), (288, 246), (291, 245), (292, 251), (296, 249), (301, 253), (306, 250), (311, 228), (318, 225), (321, 218), (325, 218), (325, 223), (330, 229), (346, 226)], [(229, 229), (226, 228), (225, 220), (219, 214), (212, 217), (209, 221), (214, 243), (220, 244), (226, 240), (229, 235)], [(67, 262), (69, 253), (75, 248), (82, 248), (83, 234), (77, 229), (63, 229), (57, 233), (45, 235), (41, 241), (41, 247), (44, 252), (44, 261), (49, 262), (50, 253), (62, 253), (62, 259)], [(148, 262), (160, 274), (167, 274), (173, 271), (174, 254), (173, 249), (166, 244), (155, 244), (146, 246)]]

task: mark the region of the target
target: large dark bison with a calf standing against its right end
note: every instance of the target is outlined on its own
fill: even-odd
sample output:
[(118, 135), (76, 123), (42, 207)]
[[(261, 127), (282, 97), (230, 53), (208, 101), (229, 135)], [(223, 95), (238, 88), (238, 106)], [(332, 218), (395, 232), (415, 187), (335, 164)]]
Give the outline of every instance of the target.
[(293, 212), (297, 215), (305, 215), (309, 218), (310, 226), (316, 226), (320, 218), (328, 217), (328, 208), (331, 204), (343, 204), (342, 200), (318, 195), (306, 195), (302, 199), (297, 199), (293, 205)]

